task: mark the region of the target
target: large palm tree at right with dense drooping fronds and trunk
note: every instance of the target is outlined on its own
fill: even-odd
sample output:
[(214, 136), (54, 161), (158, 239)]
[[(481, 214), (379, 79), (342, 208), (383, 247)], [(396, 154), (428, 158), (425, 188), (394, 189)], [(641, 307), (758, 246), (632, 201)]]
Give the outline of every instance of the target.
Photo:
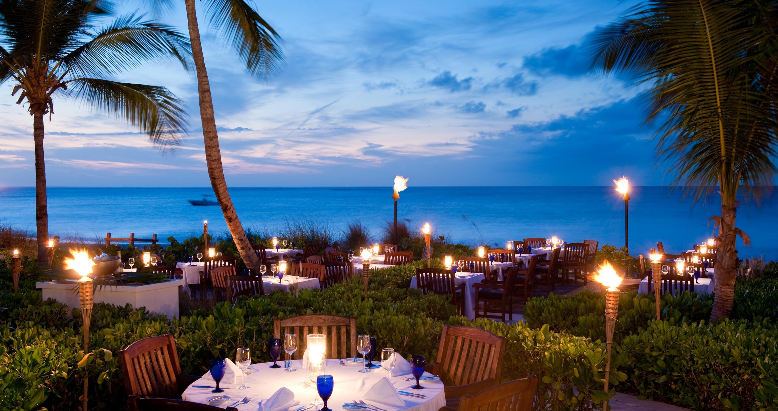
[(734, 301), (741, 198), (773, 186), (776, 165), (775, 1), (649, 0), (594, 37), (594, 67), (637, 75), (647, 120), (661, 121), (657, 153), (695, 200), (718, 193), (711, 320)]

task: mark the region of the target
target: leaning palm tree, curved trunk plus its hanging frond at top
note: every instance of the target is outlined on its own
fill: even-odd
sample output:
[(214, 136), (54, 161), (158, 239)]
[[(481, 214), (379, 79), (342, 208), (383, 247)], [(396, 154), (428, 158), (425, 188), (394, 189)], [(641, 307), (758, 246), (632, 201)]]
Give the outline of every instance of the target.
[[(275, 72), (283, 61), (282, 51), (279, 48), (280, 37), (251, 8), (251, 5), (244, 0), (203, 0), (202, 4), (209, 14), (210, 22), (216, 26), (220, 34), (230, 39), (240, 58), (246, 61), (247, 71), (251, 75), (261, 76)], [(240, 258), (244, 260), (247, 267), (254, 270), (254, 273), (258, 273), (259, 257), (251, 248), (251, 242), (244, 232), (243, 225), (240, 224), (224, 179), (219, 134), (216, 132), (211, 85), (208, 80), (208, 72), (205, 69), (205, 57), (202, 53), (195, 0), (184, 0), (184, 5), (186, 5), (187, 10), (191, 51), (197, 73), (202, 137), (205, 141), (205, 162), (208, 165), (211, 186), (216, 194), (216, 200), (222, 207), (224, 220), (227, 223), (227, 228), (230, 229), (230, 234), (233, 235), (233, 241), (240, 253)]]

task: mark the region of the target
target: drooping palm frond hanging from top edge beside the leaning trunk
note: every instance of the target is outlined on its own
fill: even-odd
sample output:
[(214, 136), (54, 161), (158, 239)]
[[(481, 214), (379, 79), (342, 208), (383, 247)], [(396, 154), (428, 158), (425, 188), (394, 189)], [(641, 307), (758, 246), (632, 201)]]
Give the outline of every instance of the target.
[(245, 0), (204, 0), (210, 23), (235, 47), (255, 76), (272, 76), (284, 64), (279, 33)]

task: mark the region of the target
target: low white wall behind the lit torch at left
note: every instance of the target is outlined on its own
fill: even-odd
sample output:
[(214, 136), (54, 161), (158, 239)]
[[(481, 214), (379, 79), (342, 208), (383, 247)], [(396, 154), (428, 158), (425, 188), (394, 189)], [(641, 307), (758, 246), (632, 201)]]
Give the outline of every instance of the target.
[[(154, 284), (123, 284), (95, 288), (94, 301), (113, 305), (130, 303), (133, 308), (145, 307), (149, 312), (178, 316), (178, 287), (184, 280), (166, 280)], [(54, 280), (36, 283), (43, 290), (44, 301), (54, 298), (70, 308), (80, 308), (78, 283), (75, 280)]]

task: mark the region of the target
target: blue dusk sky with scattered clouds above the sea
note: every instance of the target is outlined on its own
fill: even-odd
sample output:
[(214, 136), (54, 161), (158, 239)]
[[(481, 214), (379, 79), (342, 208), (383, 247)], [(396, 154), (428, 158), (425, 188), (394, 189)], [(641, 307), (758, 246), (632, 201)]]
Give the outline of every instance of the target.
[[(587, 36), (633, 4), (257, 1), (286, 57), (264, 79), (200, 16), (227, 182), (667, 185), (640, 89), (588, 71)], [(146, 17), (185, 32), (183, 8)], [(187, 135), (160, 149), (59, 96), (45, 124), (48, 185), (208, 186), (194, 73), (155, 61), (115, 79), (168, 87), (190, 115)], [(11, 87), (0, 86), (0, 186), (33, 186), (32, 117)]]

